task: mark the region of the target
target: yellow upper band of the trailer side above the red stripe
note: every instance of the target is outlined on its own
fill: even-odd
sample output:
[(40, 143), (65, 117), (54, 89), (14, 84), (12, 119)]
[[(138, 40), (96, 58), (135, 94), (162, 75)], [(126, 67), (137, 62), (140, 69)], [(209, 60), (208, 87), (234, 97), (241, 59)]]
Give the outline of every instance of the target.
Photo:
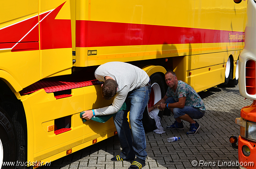
[[(77, 20), (230, 30), (226, 22), (232, 18), (230, 24), (236, 31), (243, 27), (237, 16), (243, 14), (244, 18), (246, 3), (234, 4), (232, 0), (130, 0), (129, 3), (77, 0)], [(219, 22), (221, 24), (216, 24)]]

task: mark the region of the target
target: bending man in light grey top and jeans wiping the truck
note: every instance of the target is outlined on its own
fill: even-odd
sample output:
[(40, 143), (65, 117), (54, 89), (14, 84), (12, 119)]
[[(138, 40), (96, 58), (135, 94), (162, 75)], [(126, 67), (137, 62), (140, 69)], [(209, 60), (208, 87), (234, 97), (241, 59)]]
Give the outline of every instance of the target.
[[(108, 62), (100, 65), (94, 75), (99, 81), (104, 82), (102, 97), (106, 100), (114, 96), (115, 98), (112, 105), (88, 110), (83, 114), (83, 118), (89, 120), (93, 116), (116, 113), (114, 123), (122, 151), (111, 160), (134, 160), (137, 156), (129, 169), (141, 169), (146, 165), (147, 156), (142, 117), (150, 96), (150, 78), (144, 70), (124, 62)], [(131, 130), (127, 118), (128, 111), (119, 111), (124, 102), (130, 111)]]

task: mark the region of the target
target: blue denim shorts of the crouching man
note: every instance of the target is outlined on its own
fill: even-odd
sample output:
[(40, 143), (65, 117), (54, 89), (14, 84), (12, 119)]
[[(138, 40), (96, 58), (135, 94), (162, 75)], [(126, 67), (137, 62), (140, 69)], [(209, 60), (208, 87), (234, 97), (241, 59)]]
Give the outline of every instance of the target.
[[(165, 101), (165, 103), (175, 102), (176, 101), (172, 97), (168, 97)], [(184, 108), (173, 108), (173, 116), (175, 119), (185, 114), (188, 114), (192, 119), (199, 119), (204, 116), (204, 113), (202, 113), (198, 108), (193, 108), (191, 106), (184, 106)]]

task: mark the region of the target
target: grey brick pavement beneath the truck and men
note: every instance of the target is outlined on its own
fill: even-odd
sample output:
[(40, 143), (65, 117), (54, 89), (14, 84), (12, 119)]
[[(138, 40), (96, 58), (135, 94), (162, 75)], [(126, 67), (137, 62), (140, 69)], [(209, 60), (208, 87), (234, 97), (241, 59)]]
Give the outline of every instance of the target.
[[(219, 85), (208, 91), (199, 92), (206, 114), (197, 120), (201, 125), (195, 135), (185, 134), (189, 123), (185, 122), (184, 130), (167, 130), (164, 134), (146, 133), (147, 153), (146, 166), (143, 169), (194, 169), (191, 165), (196, 160), (206, 162), (211, 167), (197, 165), (197, 168), (218, 169), (229, 167), (230, 163), (238, 160), (237, 149), (231, 147), (229, 137), (238, 136), (239, 126), (235, 118), (240, 117), (240, 109), (252, 104), (252, 100), (244, 100), (236, 87)], [(162, 126), (171, 125), (173, 116), (163, 116)], [(168, 137), (177, 136), (177, 142), (167, 142)], [(41, 169), (128, 169), (130, 161), (110, 160), (120, 152), (118, 136), (86, 147), (71, 155), (51, 162), (51, 165)], [(214, 165), (215, 164), (215, 165)], [(236, 168), (237, 167), (229, 167)]]

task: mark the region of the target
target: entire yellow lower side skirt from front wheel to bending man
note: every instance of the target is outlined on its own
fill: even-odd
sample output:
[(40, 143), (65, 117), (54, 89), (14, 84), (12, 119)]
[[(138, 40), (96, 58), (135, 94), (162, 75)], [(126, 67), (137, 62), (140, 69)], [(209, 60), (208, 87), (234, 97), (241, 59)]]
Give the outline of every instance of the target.
[[(21, 97), (29, 123), (28, 133), (32, 133), (28, 136), (28, 143), (31, 143), (28, 144), (28, 160), (45, 159), (115, 131), (112, 119), (106, 123), (92, 120), (83, 123), (79, 116), (84, 110), (104, 107), (112, 103), (113, 100), (103, 100), (101, 85), (72, 89), (71, 95), (56, 100), (53, 93), (40, 90)], [(54, 125), (54, 119), (69, 115), (71, 115), (70, 131), (58, 135), (53, 131), (47, 131), (48, 126)]]

